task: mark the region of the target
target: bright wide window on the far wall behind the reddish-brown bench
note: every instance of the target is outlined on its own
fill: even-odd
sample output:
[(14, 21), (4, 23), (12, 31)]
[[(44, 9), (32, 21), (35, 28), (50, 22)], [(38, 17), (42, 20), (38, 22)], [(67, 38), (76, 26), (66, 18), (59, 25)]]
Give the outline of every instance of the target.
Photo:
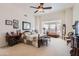
[(43, 30), (45, 32), (52, 31), (61, 34), (61, 23), (59, 22), (46, 22), (44, 23), (43, 28), (45, 28), (45, 30)]

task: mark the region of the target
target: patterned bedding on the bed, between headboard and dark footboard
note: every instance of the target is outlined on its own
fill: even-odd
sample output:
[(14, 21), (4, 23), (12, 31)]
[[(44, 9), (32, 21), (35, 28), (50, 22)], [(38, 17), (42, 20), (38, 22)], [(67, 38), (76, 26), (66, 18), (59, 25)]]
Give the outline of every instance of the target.
[(30, 32), (25, 32), (22, 35), (22, 38), (24, 40), (24, 43), (38, 47), (38, 34), (31, 34)]

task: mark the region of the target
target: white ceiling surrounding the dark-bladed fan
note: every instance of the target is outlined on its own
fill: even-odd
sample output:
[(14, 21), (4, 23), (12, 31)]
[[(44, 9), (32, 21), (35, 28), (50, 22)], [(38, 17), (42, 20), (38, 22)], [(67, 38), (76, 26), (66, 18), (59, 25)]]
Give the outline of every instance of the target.
[[(3, 5), (7, 5), (7, 4), (3, 4)], [(19, 9), (23, 9), (23, 10), (30, 10), (30, 12), (34, 13), (34, 11), (36, 9), (30, 8), (30, 6), (38, 6), (39, 4), (38, 3), (10, 3), (9, 5), (16, 6)], [(72, 7), (73, 5), (74, 5), (73, 3), (45, 3), (44, 6), (46, 6), (46, 7), (52, 6), (52, 9), (44, 10), (45, 12), (43, 14), (64, 10), (66, 8)], [(37, 14), (39, 14), (39, 13), (37, 13)]]

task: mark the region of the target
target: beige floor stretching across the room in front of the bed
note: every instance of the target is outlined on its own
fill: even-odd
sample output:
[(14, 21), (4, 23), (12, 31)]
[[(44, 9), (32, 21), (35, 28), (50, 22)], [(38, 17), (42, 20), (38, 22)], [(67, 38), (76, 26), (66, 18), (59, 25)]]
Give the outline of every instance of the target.
[(70, 46), (60, 38), (51, 38), (48, 46), (36, 48), (27, 44), (0, 48), (2, 56), (70, 56)]

